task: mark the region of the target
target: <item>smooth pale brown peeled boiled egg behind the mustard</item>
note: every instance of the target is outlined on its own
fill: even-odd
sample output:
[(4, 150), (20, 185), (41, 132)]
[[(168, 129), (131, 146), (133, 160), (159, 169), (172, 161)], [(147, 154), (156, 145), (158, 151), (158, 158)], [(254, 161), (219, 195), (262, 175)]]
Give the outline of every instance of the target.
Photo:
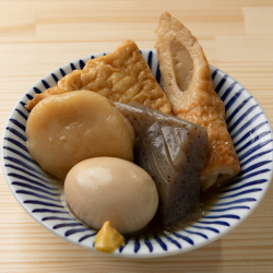
[(64, 181), (73, 213), (94, 229), (105, 222), (121, 234), (144, 228), (154, 217), (158, 193), (150, 175), (138, 165), (115, 157), (94, 157), (76, 164)]

